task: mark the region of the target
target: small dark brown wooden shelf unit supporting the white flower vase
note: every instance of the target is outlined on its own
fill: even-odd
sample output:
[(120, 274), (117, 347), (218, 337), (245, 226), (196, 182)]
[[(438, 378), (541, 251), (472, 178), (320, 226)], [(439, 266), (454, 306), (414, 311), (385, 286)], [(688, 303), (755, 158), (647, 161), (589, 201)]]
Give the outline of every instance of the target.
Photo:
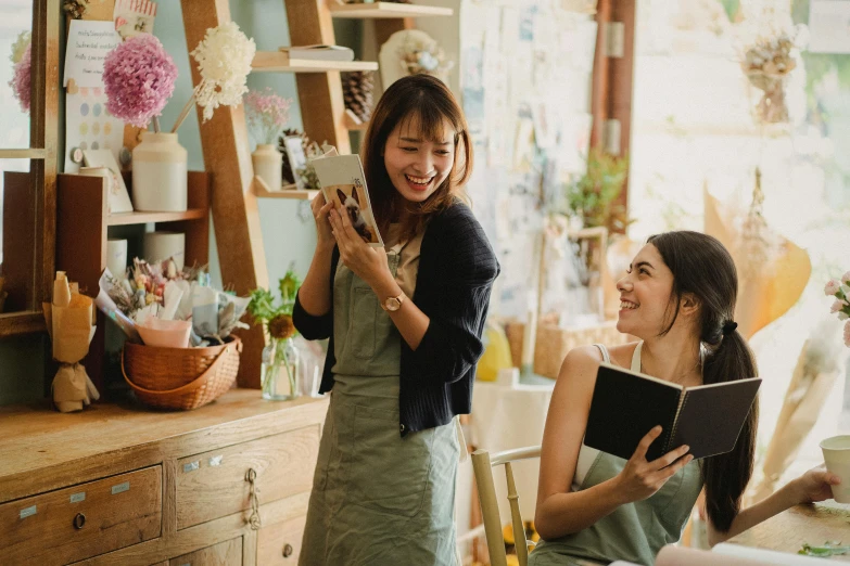
[[(61, 173), (56, 179), (56, 269), (96, 296), (106, 268), (109, 227), (155, 223), (156, 229), (186, 234), (187, 266), (210, 262), (210, 184), (206, 172), (190, 171), (186, 213), (126, 213), (110, 215), (102, 177)], [(131, 190), (131, 186), (128, 186)], [(129, 259), (129, 258), (128, 258)], [(98, 312), (98, 330), (83, 360), (91, 381), (103, 394), (105, 317)]]

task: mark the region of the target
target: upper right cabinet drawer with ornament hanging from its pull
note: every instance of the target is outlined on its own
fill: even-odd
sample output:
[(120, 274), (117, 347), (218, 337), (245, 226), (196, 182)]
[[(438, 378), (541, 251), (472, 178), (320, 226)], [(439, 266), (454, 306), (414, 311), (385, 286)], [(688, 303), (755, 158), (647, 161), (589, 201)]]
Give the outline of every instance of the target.
[(261, 504), (309, 491), (318, 451), (314, 425), (178, 460), (177, 529), (251, 509), (251, 469)]

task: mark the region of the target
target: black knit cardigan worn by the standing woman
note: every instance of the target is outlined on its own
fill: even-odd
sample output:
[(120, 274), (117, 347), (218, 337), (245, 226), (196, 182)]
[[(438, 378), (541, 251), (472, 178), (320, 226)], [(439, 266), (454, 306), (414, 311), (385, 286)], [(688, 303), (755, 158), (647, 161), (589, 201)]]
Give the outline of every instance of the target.
[[(314, 317), (296, 297), (295, 327), (308, 340), (330, 338), (320, 393), (333, 387), (333, 279), (339, 248), (331, 257), (331, 308)], [(399, 432), (447, 424), (469, 413), (475, 364), (484, 352), (481, 335), (499, 265), (472, 210), (455, 203), (437, 213), (422, 235), (416, 290), (410, 299), (430, 319), (416, 350), (402, 339)]]

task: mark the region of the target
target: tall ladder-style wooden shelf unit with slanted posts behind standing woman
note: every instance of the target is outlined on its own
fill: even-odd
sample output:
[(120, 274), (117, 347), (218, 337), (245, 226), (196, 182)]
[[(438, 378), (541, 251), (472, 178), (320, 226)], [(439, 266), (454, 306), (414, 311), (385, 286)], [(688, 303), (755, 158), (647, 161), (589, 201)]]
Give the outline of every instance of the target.
[[(188, 49), (194, 49), (207, 28), (231, 20), (227, 2), (214, 0), (180, 0), (183, 29)], [(452, 12), (434, 7), (396, 4), (341, 5), (333, 0), (287, 0), (290, 44), (337, 44), (333, 33), (334, 17), (376, 18), (376, 41), (382, 43), (395, 31), (414, 27), (413, 18), (426, 15), (449, 15)], [(294, 73), (301, 105), (302, 129), (312, 140), (322, 140), (334, 145), (340, 154), (351, 153), (352, 129), (364, 125), (346, 126), (345, 104), (342, 95), (340, 72), (377, 70), (376, 62), (292, 61), (283, 51), (261, 51), (253, 61), (255, 73)], [(201, 76), (192, 66), (192, 82)], [(196, 108), (199, 118), (202, 110)], [(214, 195), (212, 213), (216, 240), (227, 242), (219, 246), (218, 257), (221, 279), (237, 294), (244, 296), (257, 287), (269, 287), (263, 233), (259, 226), (258, 197), (310, 198), (299, 192), (261, 191), (252, 184), (254, 172), (250, 142), (245, 128), (243, 106), (223, 106), (216, 110), (214, 119), (201, 123), (201, 147), (204, 163), (212, 173)], [(240, 333), (243, 343), (239, 371), (239, 386), (259, 388), (261, 357), (266, 336), (261, 325), (252, 325)]]

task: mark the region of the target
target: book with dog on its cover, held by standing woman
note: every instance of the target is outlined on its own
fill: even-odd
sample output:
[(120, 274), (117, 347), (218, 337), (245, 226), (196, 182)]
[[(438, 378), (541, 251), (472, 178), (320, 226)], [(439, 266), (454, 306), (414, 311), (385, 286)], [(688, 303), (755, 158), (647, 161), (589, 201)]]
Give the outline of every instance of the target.
[(381, 233), (372, 216), (369, 190), (359, 155), (337, 155), (337, 150), (310, 162), (319, 178), (326, 202), (344, 210), (354, 230), (367, 244), (383, 247)]

